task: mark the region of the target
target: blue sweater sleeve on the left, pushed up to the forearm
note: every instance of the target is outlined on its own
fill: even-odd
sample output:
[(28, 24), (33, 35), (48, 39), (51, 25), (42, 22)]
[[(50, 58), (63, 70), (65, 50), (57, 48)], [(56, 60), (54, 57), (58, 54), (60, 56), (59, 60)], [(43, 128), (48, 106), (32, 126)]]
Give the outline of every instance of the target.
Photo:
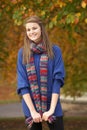
[(29, 81), (27, 78), (26, 67), (22, 63), (22, 48), (18, 52), (17, 58), (17, 93), (29, 93)]

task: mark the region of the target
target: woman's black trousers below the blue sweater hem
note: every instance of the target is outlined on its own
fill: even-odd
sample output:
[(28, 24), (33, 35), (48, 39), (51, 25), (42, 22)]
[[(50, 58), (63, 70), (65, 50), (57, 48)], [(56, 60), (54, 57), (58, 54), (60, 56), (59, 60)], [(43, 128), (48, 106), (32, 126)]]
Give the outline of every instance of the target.
[[(63, 117), (57, 117), (54, 123), (48, 123), (49, 130), (64, 130)], [(42, 123), (33, 123), (30, 130), (42, 130)]]

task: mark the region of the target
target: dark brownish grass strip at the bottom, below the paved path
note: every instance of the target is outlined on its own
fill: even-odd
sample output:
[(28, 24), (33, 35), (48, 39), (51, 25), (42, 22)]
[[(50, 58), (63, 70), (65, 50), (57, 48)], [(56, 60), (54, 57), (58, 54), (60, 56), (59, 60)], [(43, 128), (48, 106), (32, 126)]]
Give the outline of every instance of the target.
[[(65, 117), (65, 130), (87, 130), (87, 117)], [(27, 130), (24, 118), (2, 118), (0, 119), (0, 130)], [(49, 130), (43, 123), (43, 130)]]

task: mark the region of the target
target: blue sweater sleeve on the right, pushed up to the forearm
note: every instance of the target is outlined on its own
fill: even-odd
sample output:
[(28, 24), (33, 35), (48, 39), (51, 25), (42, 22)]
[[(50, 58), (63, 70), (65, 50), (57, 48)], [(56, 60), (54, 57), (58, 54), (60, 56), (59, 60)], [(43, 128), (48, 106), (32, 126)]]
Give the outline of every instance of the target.
[(58, 46), (54, 46), (54, 70), (53, 70), (53, 93), (60, 93), (60, 87), (64, 85), (65, 68), (62, 53)]

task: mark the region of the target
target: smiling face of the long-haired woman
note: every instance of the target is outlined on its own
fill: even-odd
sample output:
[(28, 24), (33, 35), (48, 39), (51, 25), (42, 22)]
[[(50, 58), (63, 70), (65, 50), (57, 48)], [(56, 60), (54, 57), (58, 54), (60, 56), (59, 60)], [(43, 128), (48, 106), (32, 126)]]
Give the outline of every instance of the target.
[(41, 27), (37, 23), (27, 23), (26, 32), (28, 38), (35, 43), (41, 40)]

